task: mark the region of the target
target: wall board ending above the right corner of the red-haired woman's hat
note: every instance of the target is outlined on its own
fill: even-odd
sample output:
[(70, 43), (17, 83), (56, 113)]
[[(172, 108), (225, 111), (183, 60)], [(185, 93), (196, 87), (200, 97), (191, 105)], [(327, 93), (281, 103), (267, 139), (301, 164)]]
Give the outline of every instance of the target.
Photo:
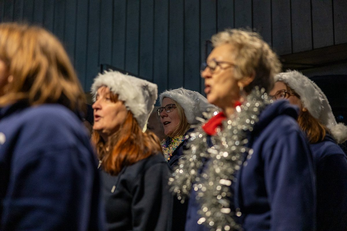
[(139, 76), (153, 78), (153, 10), (154, 0), (141, 2)]

